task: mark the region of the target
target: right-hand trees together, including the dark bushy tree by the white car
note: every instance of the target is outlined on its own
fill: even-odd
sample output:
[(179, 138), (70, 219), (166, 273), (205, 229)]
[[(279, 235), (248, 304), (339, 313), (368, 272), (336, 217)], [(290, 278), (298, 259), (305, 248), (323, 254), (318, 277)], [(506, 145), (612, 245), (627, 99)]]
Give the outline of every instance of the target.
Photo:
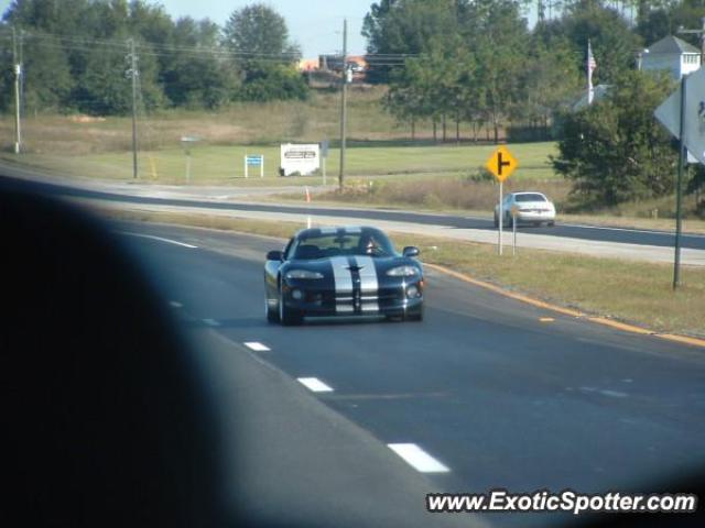
[[(674, 191), (677, 148), (653, 118), (675, 89), (668, 74), (639, 72), (644, 47), (681, 26), (699, 29), (705, 0), (577, 0), (538, 2), (527, 23), (522, 0), (381, 0), (365, 20), (372, 54), (405, 55), (404, 67), (376, 66), (371, 77), (389, 82), (384, 106), (414, 130), (419, 120), (456, 131), (462, 122), (502, 128), (531, 123), (558, 139), (556, 173), (574, 183), (578, 209), (648, 200)], [(543, 15), (542, 15), (543, 13)], [(698, 35), (679, 35), (699, 47)], [(594, 84), (607, 95), (592, 106), (587, 92), (587, 43), (597, 69)], [(698, 199), (705, 169), (686, 173), (686, 191)]]

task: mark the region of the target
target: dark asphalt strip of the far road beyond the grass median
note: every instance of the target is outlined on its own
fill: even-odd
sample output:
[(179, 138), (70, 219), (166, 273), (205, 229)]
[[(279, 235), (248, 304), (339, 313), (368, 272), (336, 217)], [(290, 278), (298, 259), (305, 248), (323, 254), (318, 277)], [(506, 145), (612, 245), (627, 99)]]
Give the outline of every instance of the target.
[[(2, 167), (8, 176), (29, 175), (31, 172), (21, 168)], [(26, 185), (21, 180), (17, 185)], [(429, 226), (448, 226), (455, 229), (479, 229), (495, 230), (491, 218), (480, 217), (462, 217), (452, 215), (430, 215), (416, 213), (410, 211), (390, 211), (390, 210), (364, 210), (364, 209), (339, 209), (335, 207), (312, 207), (302, 208), (295, 206), (280, 205), (259, 205), (259, 204), (235, 204), (229, 201), (213, 200), (193, 200), (193, 199), (172, 199), (156, 198), (148, 196), (131, 196), (123, 194), (104, 193), (99, 190), (84, 189), (77, 187), (67, 187), (48, 183), (33, 184), (36, 189), (53, 195), (72, 198), (93, 198), (107, 201), (121, 201), (130, 204), (143, 205), (161, 205), (173, 207), (198, 207), (214, 210), (232, 210), (232, 211), (263, 211), (263, 212), (294, 212), (310, 213), (311, 216), (340, 216), (345, 211), (348, 218), (360, 219), (360, 223), (369, 223), (375, 220), (390, 220), (399, 222), (414, 222)], [(551, 237), (573, 238), (601, 242), (617, 242), (625, 244), (653, 245), (661, 248), (671, 248), (674, 245), (675, 235), (673, 232), (609, 228), (597, 226), (566, 224), (557, 223), (553, 228), (533, 228), (521, 227), (520, 229), (533, 234), (545, 234)], [(681, 246), (684, 249), (705, 250), (705, 234), (684, 234), (681, 239)]]

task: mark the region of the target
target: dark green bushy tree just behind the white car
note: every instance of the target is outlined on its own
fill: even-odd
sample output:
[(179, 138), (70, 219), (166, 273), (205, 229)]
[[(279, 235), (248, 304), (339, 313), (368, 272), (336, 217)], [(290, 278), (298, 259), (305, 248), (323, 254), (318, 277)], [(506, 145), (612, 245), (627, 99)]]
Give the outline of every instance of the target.
[(554, 169), (574, 182), (582, 208), (654, 198), (673, 191), (677, 152), (654, 109), (673, 90), (664, 75), (627, 72), (609, 96), (567, 114)]

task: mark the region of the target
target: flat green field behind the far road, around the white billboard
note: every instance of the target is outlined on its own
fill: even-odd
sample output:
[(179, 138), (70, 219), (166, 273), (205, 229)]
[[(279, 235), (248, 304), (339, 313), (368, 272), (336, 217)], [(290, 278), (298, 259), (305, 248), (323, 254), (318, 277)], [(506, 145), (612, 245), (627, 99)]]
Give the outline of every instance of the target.
[[(482, 166), (494, 145), (453, 146), (350, 146), (346, 151), (346, 174), (350, 177), (392, 176), (386, 179), (470, 175)], [(512, 179), (554, 179), (549, 165), (549, 154), (555, 152), (554, 143), (512, 144), (511, 152), (520, 166)], [(186, 178), (187, 156), (183, 148), (165, 148), (141, 152), (140, 178), (170, 185), (228, 184), (228, 185), (312, 185), (322, 177), (279, 177), (279, 145), (197, 145), (192, 148), (191, 180)], [(264, 178), (259, 168), (250, 168), (245, 179), (243, 156), (264, 155)], [(6, 155), (6, 157), (9, 157)], [(21, 161), (28, 165), (52, 169), (75, 176), (99, 179), (132, 179), (132, 155), (129, 152), (108, 152), (62, 156), (58, 154), (24, 154)], [(337, 179), (339, 151), (332, 148), (326, 162), (329, 182)]]

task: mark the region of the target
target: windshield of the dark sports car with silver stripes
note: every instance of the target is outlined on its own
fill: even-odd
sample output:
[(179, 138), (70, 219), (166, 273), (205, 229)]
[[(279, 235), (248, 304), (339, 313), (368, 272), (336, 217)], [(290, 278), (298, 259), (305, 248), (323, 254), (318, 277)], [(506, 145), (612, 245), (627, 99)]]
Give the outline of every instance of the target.
[(292, 245), (292, 258), (315, 260), (332, 256), (394, 256), (391, 241), (380, 231), (361, 230), (337, 233), (314, 231), (301, 234)]

